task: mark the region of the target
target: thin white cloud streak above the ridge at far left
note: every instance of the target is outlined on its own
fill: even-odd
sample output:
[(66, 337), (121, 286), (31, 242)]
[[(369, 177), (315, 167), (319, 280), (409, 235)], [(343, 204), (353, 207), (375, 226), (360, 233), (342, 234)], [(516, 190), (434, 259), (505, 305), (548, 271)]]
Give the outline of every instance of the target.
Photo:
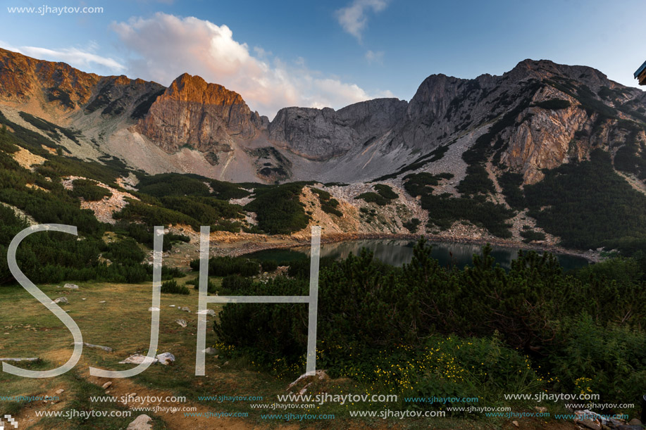
[(10, 51), (22, 53), (26, 56), (46, 61), (63, 61), (83, 71), (96, 71), (102, 73), (122, 73), (125, 65), (113, 58), (99, 56), (93, 51), (98, 48), (96, 42), (89, 42), (86, 49), (61, 48), (48, 49), (39, 46), (11, 46), (2, 42), (2, 46)]

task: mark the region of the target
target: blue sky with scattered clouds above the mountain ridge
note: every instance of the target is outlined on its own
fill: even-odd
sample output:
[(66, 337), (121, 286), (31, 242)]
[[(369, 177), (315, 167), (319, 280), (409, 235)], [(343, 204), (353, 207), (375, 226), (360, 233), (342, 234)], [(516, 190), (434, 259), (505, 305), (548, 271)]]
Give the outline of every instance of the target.
[[(182, 72), (282, 106), (409, 100), (428, 75), (500, 75), (525, 58), (590, 65), (635, 86), (646, 2), (624, 0), (1, 1), (0, 46), (102, 75)], [(8, 7), (103, 13), (9, 13)]]

